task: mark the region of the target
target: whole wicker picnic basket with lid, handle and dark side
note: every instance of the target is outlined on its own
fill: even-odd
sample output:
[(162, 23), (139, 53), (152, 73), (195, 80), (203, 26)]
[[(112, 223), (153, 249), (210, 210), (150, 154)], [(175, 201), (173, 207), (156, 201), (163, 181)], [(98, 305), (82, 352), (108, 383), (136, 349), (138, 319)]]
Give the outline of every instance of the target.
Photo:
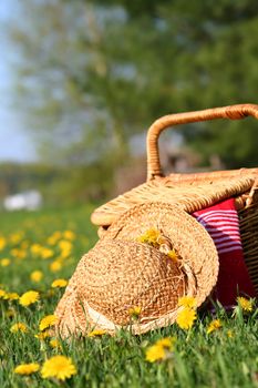
[(258, 105), (238, 104), (197, 112), (169, 114), (156, 120), (147, 133), (147, 182), (96, 208), (92, 223), (103, 237), (127, 210), (145, 202), (174, 204), (187, 213), (234, 197), (238, 210), (245, 262), (258, 294), (258, 169), (216, 171), (163, 176), (158, 137), (165, 129), (217, 119), (258, 119)]

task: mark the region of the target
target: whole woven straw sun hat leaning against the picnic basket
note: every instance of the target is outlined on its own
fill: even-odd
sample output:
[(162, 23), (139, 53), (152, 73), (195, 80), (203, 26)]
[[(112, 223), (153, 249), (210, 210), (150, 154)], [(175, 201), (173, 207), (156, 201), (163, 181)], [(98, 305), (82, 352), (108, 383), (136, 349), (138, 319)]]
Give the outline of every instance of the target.
[(214, 242), (194, 217), (169, 204), (136, 205), (81, 258), (56, 307), (56, 328), (66, 337), (164, 327), (175, 321), (179, 297), (194, 296), (199, 306), (217, 275)]

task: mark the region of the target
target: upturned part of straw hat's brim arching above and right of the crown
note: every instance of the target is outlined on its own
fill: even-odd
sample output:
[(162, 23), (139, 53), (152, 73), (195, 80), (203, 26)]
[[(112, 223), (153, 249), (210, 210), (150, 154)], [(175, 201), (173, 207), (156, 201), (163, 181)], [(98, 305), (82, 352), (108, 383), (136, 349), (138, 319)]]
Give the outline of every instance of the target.
[[(195, 218), (167, 203), (144, 203), (122, 214), (109, 228), (104, 239), (136, 241), (138, 235), (152, 228), (161, 231), (172, 244), (171, 248), (178, 252), (184, 263), (190, 266), (196, 276), (195, 296), (199, 306), (215, 285), (218, 264), (211, 237)], [(193, 255), (193, 252), (198, 252), (198, 255)]]

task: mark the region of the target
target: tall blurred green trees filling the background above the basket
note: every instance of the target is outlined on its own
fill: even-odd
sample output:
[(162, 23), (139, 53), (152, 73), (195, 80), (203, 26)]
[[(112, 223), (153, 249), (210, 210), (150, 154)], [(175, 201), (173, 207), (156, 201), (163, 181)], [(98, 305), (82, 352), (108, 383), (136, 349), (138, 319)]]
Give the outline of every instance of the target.
[[(132, 136), (158, 116), (257, 102), (257, 0), (23, 0), (11, 28), (20, 53), (18, 106), (43, 160), (76, 170), (85, 186), (91, 170), (100, 186), (109, 181), (103, 194), (128, 162)], [(229, 169), (258, 164), (255, 120), (176, 130), (203, 164), (210, 154)]]

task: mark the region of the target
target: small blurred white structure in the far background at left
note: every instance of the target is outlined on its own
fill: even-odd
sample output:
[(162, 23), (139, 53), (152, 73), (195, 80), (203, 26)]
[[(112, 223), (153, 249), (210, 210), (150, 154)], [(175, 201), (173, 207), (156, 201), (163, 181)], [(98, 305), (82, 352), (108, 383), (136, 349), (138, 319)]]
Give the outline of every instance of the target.
[(23, 193), (9, 195), (3, 200), (6, 211), (37, 211), (42, 206), (42, 195), (31, 190)]

